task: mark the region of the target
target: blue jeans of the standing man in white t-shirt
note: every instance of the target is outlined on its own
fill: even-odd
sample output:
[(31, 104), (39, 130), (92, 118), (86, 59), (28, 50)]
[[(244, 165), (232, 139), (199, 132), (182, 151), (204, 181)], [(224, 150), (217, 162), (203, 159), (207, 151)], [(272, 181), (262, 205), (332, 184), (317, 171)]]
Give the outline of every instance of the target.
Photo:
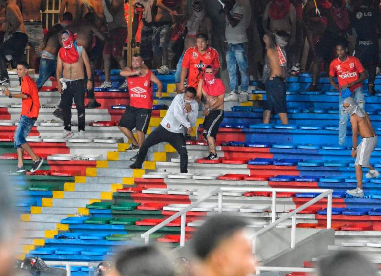
[(247, 43), (228, 44), (226, 52), (226, 64), (229, 73), (230, 91), (238, 93), (237, 64), (241, 73), (241, 91), (247, 92), (249, 88), (249, 65), (247, 59)]

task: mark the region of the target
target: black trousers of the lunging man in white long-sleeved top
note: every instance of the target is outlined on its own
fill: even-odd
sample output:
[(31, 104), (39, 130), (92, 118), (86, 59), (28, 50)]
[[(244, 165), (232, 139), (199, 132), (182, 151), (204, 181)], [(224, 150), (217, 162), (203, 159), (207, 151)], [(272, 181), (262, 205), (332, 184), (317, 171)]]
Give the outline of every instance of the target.
[(185, 139), (183, 133), (173, 133), (159, 125), (146, 140), (144, 140), (143, 145), (140, 147), (138, 157), (136, 162), (138, 165), (142, 165), (144, 159), (146, 158), (147, 151), (153, 145), (167, 142), (173, 148), (177, 150), (180, 154), (180, 172), (188, 172), (188, 152), (187, 146), (185, 145)]

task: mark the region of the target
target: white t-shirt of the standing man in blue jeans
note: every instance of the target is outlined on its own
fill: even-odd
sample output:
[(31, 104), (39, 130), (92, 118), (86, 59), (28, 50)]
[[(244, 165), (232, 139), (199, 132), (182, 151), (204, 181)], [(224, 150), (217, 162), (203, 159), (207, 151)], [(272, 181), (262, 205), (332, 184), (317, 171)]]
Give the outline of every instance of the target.
[(249, 0), (237, 0), (230, 10), (233, 18), (239, 19), (238, 25), (234, 28), (229, 24), (226, 17), (225, 38), (229, 44), (239, 44), (248, 42), (246, 30), (249, 27), (251, 19), (251, 7)]

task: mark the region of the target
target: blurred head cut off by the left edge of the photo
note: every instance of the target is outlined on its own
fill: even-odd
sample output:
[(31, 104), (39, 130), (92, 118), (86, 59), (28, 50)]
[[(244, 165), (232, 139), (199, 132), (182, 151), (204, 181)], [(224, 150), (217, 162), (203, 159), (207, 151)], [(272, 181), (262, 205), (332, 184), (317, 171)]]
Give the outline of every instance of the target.
[(10, 182), (0, 172), (0, 276), (12, 275), (20, 233)]

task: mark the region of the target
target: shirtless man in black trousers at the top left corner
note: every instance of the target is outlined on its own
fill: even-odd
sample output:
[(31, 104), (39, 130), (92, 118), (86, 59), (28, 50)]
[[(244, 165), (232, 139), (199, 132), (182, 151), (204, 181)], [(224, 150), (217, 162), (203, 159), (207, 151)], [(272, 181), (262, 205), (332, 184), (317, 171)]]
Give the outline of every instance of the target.
[(6, 67), (7, 56), (12, 56), (16, 63), (19, 62), (28, 43), (28, 35), (16, 0), (0, 0), (0, 3), (6, 3), (6, 21), (2, 24), (2, 30), (7, 38), (0, 45), (0, 85), (10, 85)]

